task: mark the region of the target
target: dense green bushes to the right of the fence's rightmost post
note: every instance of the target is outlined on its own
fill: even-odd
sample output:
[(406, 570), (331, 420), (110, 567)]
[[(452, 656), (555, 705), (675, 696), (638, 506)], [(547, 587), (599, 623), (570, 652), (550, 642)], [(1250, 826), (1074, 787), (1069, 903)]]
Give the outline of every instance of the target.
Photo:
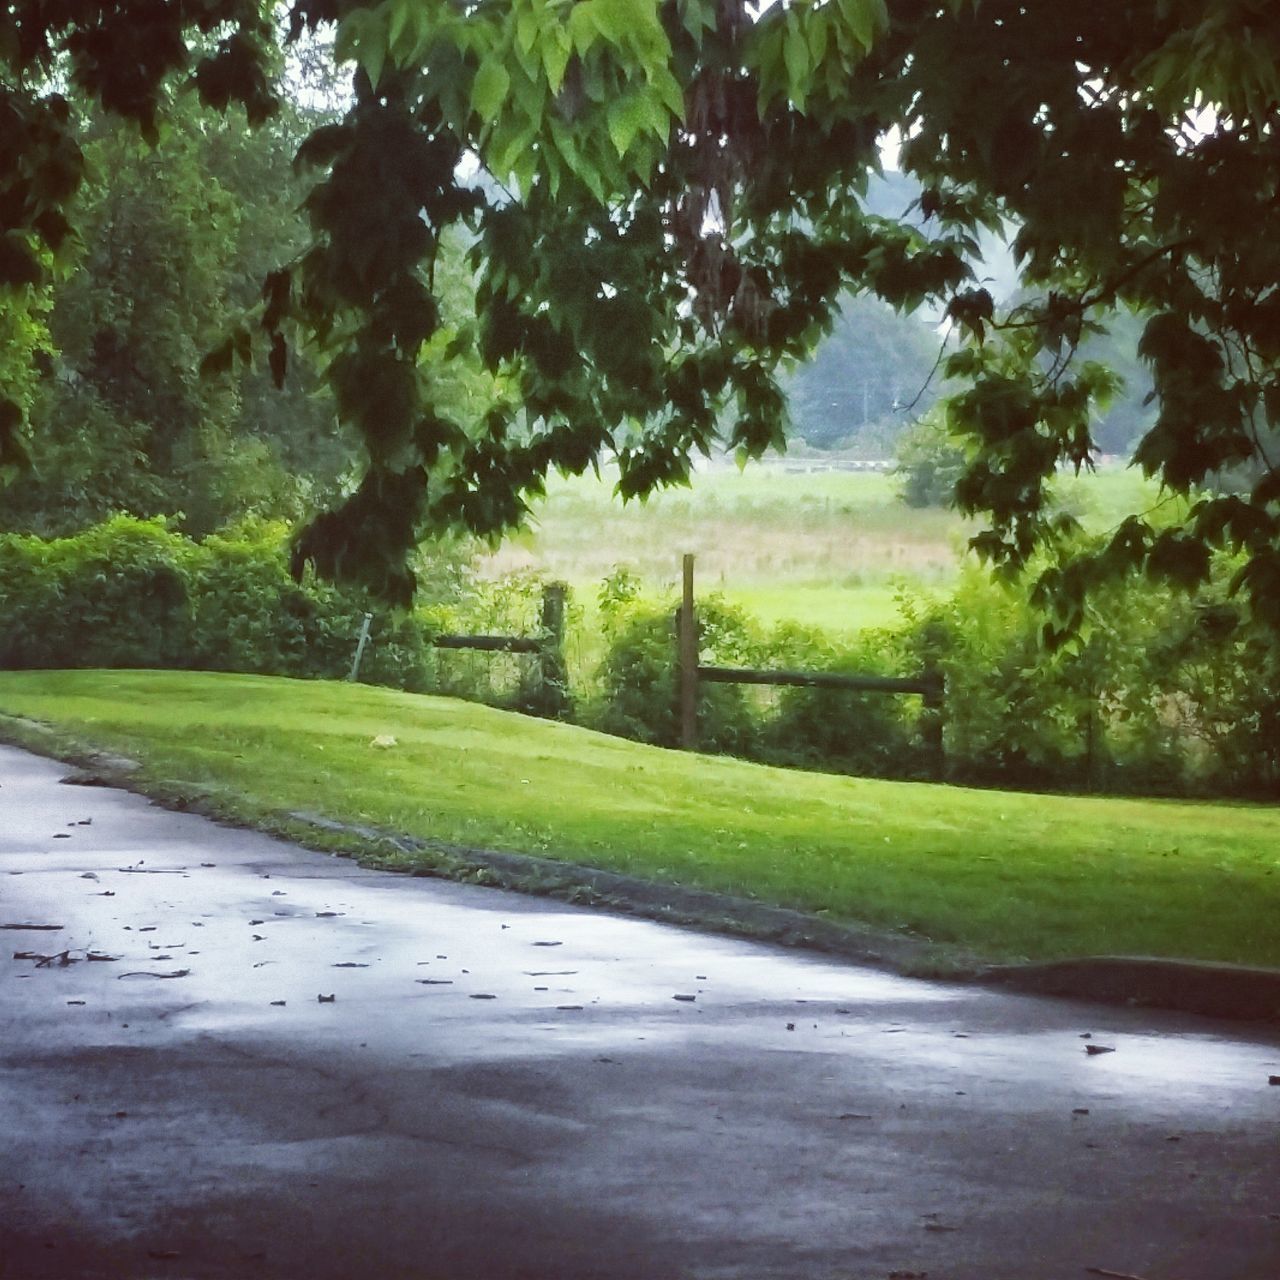
[(951, 776), (992, 786), (1275, 795), (1280, 660), (1226, 599), (1132, 579), (1097, 593), (1056, 653), (1018, 586), (977, 567), (918, 605), (946, 676)]

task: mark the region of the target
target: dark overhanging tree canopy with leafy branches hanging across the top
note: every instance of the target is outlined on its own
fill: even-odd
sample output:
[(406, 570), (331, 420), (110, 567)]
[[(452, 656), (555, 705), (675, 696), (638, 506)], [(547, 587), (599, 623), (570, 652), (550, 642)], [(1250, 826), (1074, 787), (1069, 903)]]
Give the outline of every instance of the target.
[[(17, 0), (0, 18), (0, 282), (20, 303), (72, 236), (83, 102), (155, 138), (189, 81), (251, 122), (274, 108), (261, 0)], [(1094, 452), (1114, 379), (1076, 348), (1142, 317), (1156, 419), (1137, 462), (1192, 494), (1050, 562), (1050, 630), (1142, 567), (1194, 586), (1219, 549), (1280, 630), (1280, 10), (1270, 0), (297, 0), (335, 26), (346, 116), (298, 164), (311, 243), (266, 276), (253, 326), (276, 379), (307, 348), (367, 449), (358, 488), (300, 561), (390, 595), (443, 527), (518, 521), (552, 468), (612, 457), (623, 497), (700, 451), (783, 442), (780, 375), (846, 291), (928, 303), (968, 438), (978, 549), (1018, 568), (1066, 547), (1046, 484)], [(864, 202), (886, 143), (922, 189)], [(161, 143), (163, 145), (163, 140)], [(463, 227), (474, 323), (442, 351), (435, 260)], [(1011, 238), (998, 306), (980, 234)], [(29, 312), (28, 314), (33, 314)], [(29, 325), (28, 325), (29, 328)], [(244, 332), (246, 335), (248, 330)], [(433, 339), (434, 346), (433, 346)], [(215, 352), (212, 367), (247, 355)], [(424, 355), (429, 352), (430, 355)], [(449, 361), (493, 396), (457, 412)], [(0, 375), (8, 376), (5, 369)], [(22, 387), (0, 408), (19, 461)], [(1235, 480), (1215, 481), (1225, 474)]]

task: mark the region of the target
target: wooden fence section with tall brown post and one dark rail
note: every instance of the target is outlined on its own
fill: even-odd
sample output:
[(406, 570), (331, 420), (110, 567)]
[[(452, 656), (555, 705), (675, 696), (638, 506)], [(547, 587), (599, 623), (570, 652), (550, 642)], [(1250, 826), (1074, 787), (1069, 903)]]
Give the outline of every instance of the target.
[(684, 591), (676, 614), (676, 644), (680, 663), (680, 745), (698, 750), (698, 686), (790, 685), (804, 689), (844, 689), (859, 694), (915, 694), (924, 699), (922, 735), (932, 759), (933, 776), (946, 773), (942, 722), (946, 687), (941, 672), (925, 669), (919, 676), (855, 676), (833, 671), (756, 671), (750, 667), (704, 667), (699, 659), (698, 612), (694, 605), (694, 557), (685, 556)]

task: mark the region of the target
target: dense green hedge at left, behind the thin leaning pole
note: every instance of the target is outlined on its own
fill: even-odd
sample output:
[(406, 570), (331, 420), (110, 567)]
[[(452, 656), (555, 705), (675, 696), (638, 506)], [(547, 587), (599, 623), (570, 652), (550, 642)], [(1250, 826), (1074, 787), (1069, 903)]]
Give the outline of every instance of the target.
[(426, 687), (422, 623), (307, 581), (282, 525), (202, 543), (114, 516), (72, 538), (0, 536), (0, 666), (183, 667), (338, 678), (374, 613), (361, 678)]

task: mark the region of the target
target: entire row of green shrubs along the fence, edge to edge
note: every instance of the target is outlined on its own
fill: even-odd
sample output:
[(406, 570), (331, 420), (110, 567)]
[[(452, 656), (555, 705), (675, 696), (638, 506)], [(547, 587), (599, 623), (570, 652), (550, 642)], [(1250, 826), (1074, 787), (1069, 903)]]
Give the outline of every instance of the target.
[[(361, 678), (536, 709), (529, 658), (444, 653), (443, 630), (535, 634), (541, 584), (485, 584), (456, 549), (424, 561), (411, 614), (358, 593), (294, 582), (285, 530), (196, 543), (163, 521), (118, 516), (74, 538), (0, 536), (0, 667), (184, 667), (340, 678), (374, 616)], [(1224, 575), (1225, 577), (1225, 575)], [(946, 599), (901, 598), (902, 623), (844, 641), (699, 602), (701, 660), (946, 678), (946, 756), (956, 781), (993, 786), (1280, 794), (1280, 659), (1219, 590), (1199, 599), (1133, 581), (1091, 607), (1080, 643), (1050, 654), (1020, 593), (977, 568)], [(675, 602), (641, 599), (626, 571), (599, 595), (603, 657), (575, 690), (576, 717), (663, 746), (678, 737)], [(700, 746), (881, 777), (934, 759), (918, 698), (704, 685)]]

